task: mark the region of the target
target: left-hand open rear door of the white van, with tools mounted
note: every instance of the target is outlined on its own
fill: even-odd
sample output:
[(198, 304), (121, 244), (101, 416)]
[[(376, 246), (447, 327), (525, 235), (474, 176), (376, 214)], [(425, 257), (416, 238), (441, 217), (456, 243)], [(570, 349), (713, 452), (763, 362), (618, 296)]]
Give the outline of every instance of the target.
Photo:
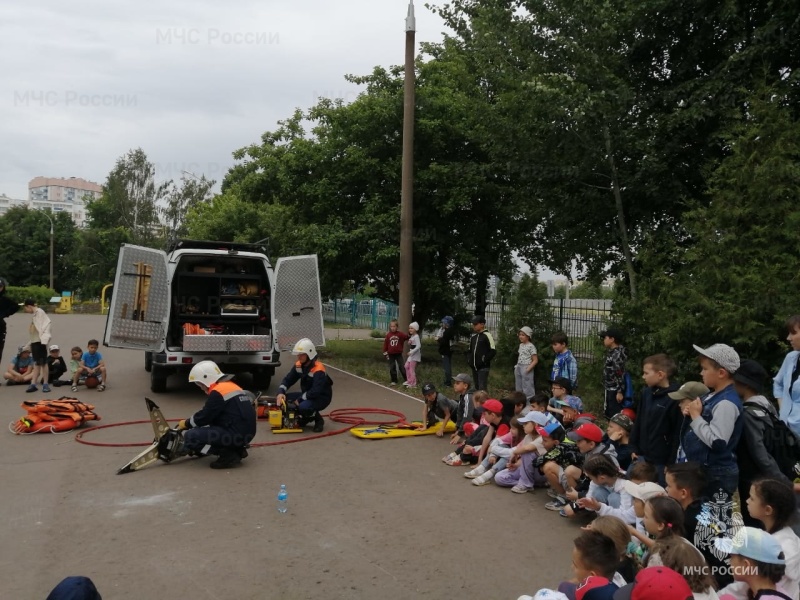
[(170, 293), (167, 255), (123, 244), (103, 342), (114, 348), (158, 352), (164, 345)]

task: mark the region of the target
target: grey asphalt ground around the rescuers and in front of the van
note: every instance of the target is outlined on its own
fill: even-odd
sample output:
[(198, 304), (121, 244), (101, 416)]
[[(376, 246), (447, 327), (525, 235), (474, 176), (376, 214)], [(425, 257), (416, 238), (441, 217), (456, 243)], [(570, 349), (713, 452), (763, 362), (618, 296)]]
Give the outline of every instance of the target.
[[(8, 319), (7, 350), (25, 341), (29, 319)], [(100, 316), (53, 315), (53, 341), (85, 347), (90, 337), (102, 339), (104, 326)], [(100, 425), (147, 419), (145, 396), (172, 419), (202, 406), (199, 390), (177, 378), (168, 393), (151, 394), (141, 352), (101, 352), (108, 389), (77, 394), (95, 404)], [(3, 362), (9, 358), (7, 351)], [(420, 404), (409, 396), (334, 369), (331, 375), (331, 408), (419, 418)], [(41, 397), (0, 387), (3, 423), (22, 416), (22, 401)], [(327, 432), (340, 427), (326, 423)], [(85, 436), (107, 444), (151, 438), (146, 424)], [(255, 442), (292, 439), (260, 422)], [(440, 461), (450, 449), (434, 436), (368, 441), (345, 433), (254, 448), (229, 471), (209, 469), (209, 459), (180, 459), (116, 475), (141, 448), (82, 445), (72, 433), (6, 432), (0, 595), (45, 598), (63, 577), (86, 575), (110, 600), (513, 599), (570, 577), (577, 524), (544, 510), (543, 491), (470, 485), (465, 469)], [(276, 510), (282, 483), (286, 514)]]

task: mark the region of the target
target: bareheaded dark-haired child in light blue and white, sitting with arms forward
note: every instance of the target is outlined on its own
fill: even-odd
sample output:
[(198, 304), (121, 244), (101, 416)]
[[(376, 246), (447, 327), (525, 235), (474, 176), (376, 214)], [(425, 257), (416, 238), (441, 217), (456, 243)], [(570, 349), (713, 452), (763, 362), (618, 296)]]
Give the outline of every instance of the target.
[[(625, 491), (625, 480), (614, 461), (597, 454), (583, 463), (583, 472), (591, 483), (586, 497), (577, 500), (577, 508), (594, 511), (600, 516), (617, 517), (629, 525), (636, 523), (633, 497)], [(565, 506), (562, 515), (574, 516), (575, 508), (572, 504)]]

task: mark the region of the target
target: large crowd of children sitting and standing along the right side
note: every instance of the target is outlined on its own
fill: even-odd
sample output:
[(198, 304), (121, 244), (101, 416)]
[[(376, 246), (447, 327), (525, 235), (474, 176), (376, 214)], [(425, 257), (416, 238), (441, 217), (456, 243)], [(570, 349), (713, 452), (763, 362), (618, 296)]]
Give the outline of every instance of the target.
[[(519, 337), (530, 343), (528, 331)], [(550, 395), (492, 399), (462, 373), (455, 399), (423, 387), (420, 427), (443, 436), (455, 423), (456, 448), (442, 460), (469, 466), (473, 485), (546, 489), (545, 508), (595, 517), (575, 540), (575, 581), (543, 590), (548, 598), (612, 598), (625, 586), (680, 600), (800, 598), (800, 538), (790, 527), (800, 484), (767, 441), (766, 428), (780, 427), (763, 396), (766, 371), (725, 344), (695, 346), (703, 382), (678, 387), (674, 362), (653, 355), (634, 413), (621, 334), (602, 337), (605, 431), (574, 395), (577, 364), (563, 334), (553, 338)], [(658, 583), (668, 581), (677, 595)]]

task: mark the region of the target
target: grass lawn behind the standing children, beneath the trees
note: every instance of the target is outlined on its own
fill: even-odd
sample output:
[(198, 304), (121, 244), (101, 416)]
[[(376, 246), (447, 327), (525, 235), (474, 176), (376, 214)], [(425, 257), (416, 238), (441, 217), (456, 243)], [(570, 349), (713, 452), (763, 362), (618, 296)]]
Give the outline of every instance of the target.
[[(467, 366), (466, 358), (467, 346), (459, 343), (453, 347), (453, 375), (458, 373), (471, 374)], [(326, 346), (320, 348), (320, 357), (326, 364), (338, 367), (383, 385), (389, 384), (389, 366), (383, 356), (383, 339), (369, 340), (327, 340)], [(493, 398), (503, 398), (514, 391), (514, 372), (509, 365), (495, 364), (489, 372), (489, 396)], [(547, 376), (550, 365), (542, 365), (536, 369), (536, 388), (549, 389)], [(602, 390), (599, 389), (600, 373), (602, 364), (580, 363), (579, 368), (581, 393), (587, 410), (600, 416), (602, 413)], [(453, 396), (452, 388), (441, 390), (441, 383), (444, 379), (442, 371), (441, 357), (436, 351), (436, 342), (426, 339), (422, 342), (422, 362), (417, 365), (417, 381), (419, 389), (425, 383), (433, 383), (440, 391), (448, 396)], [(597, 384), (592, 385), (594, 381)]]

